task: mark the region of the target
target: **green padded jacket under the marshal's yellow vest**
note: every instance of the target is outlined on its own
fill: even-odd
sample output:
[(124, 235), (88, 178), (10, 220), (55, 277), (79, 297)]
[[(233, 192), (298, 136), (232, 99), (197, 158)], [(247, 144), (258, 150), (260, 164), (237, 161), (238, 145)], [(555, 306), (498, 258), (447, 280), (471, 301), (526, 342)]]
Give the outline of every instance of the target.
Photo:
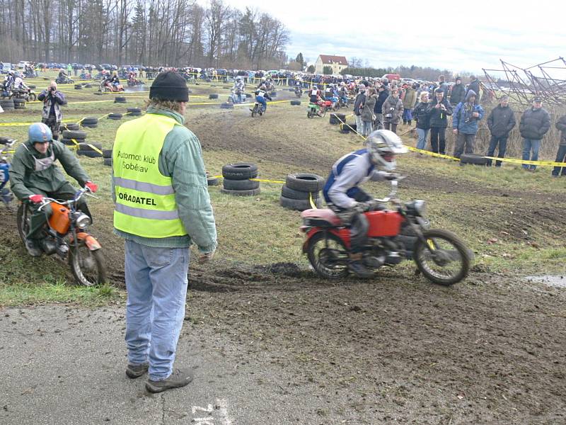
[[(185, 120), (180, 114), (156, 108), (148, 108), (147, 113), (158, 113), (175, 118), (180, 124)], [(125, 239), (146, 246), (161, 248), (184, 248), (195, 242), (201, 252), (216, 249), (216, 223), (210, 203), (204, 161), (200, 142), (190, 130), (175, 125), (163, 142), (163, 149), (158, 159), (159, 172), (171, 176), (175, 203), (179, 217), (183, 221), (186, 236), (164, 238), (146, 238), (114, 229), (114, 233)], [(112, 183), (112, 198), (115, 198)]]

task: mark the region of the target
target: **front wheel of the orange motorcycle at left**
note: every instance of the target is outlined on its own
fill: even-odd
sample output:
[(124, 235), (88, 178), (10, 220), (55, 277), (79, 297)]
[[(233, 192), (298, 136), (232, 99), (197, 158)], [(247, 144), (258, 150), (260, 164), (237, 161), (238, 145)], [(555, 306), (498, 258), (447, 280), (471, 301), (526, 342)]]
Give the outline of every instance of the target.
[(69, 251), (69, 266), (76, 283), (85, 286), (98, 285), (106, 281), (106, 268), (99, 249), (91, 251), (83, 241), (77, 246), (71, 244)]

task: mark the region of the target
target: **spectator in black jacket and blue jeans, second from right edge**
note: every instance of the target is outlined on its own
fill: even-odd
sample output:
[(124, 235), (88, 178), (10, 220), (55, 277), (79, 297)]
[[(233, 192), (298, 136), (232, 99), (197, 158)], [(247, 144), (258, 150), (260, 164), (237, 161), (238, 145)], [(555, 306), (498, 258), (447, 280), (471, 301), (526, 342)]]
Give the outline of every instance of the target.
[[(550, 115), (543, 109), (543, 101), (540, 97), (533, 99), (533, 106), (521, 115), (519, 132), (523, 137), (523, 160), (529, 161), (531, 150), (533, 154), (531, 161), (538, 161), (538, 149), (541, 148), (541, 140), (550, 129)], [(535, 171), (536, 165), (523, 164), (523, 169)]]

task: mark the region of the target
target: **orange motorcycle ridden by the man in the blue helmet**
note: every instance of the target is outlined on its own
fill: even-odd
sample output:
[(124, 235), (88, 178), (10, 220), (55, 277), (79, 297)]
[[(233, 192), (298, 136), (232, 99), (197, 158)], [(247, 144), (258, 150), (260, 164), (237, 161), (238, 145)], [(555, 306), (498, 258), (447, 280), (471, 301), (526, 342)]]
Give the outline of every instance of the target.
[[(69, 261), (76, 282), (92, 286), (105, 282), (106, 268), (100, 252), (102, 247), (86, 231), (86, 227), (91, 225), (91, 217), (76, 208), (78, 201), (85, 194), (96, 198), (88, 192), (88, 188), (82, 188), (71, 200), (43, 198), (38, 210), (50, 205), (53, 211), (43, 229), (40, 243), (42, 250), (47, 255), (57, 254)], [(22, 202), (18, 208), (17, 223), (18, 233), (24, 244), (30, 229), (31, 215), (30, 204), (27, 201)]]

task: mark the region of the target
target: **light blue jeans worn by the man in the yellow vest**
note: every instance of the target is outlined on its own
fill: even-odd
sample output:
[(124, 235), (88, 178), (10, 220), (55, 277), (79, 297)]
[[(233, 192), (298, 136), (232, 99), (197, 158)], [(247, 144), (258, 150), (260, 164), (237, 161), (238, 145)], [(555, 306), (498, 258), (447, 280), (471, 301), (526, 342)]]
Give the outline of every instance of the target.
[(173, 361), (187, 297), (188, 248), (154, 248), (126, 241), (128, 362), (149, 362), (149, 379), (163, 380)]

